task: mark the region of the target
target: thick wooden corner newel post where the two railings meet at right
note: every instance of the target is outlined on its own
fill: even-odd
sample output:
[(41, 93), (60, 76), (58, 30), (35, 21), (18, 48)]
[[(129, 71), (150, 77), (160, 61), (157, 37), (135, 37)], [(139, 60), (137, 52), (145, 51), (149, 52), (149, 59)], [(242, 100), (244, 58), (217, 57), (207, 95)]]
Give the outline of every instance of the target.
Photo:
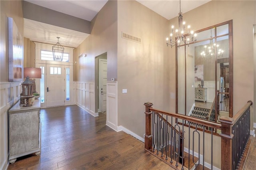
[(221, 117), (221, 169), (232, 169), (232, 133), (233, 118)]

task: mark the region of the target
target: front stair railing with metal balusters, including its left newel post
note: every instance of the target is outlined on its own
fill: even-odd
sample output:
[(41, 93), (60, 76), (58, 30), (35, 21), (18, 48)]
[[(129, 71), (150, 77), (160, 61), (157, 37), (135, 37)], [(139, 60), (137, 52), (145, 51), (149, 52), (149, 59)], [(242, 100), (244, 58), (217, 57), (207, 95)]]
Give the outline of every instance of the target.
[[(209, 142), (205, 139), (209, 139), (211, 146), (213, 146), (213, 129), (221, 129), (220, 124), (160, 111), (152, 108), (153, 104), (150, 102), (144, 103), (144, 105), (146, 107), (146, 150), (175, 169), (190, 169), (194, 166), (204, 167), (206, 159), (208, 165), (210, 165), (209, 168), (213, 168), (214, 150), (211, 147), (210, 152), (208, 151), (208, 146), (205, 145), (208, 145)], [(192, 124), (195, 127), (192, 127)], [(206, 130), (208, 127), (211, 128), (210, 132)], [(199, 128), (202, 128), (202, 130), (199, 130)], [(188, 133), (185, 133), (185, 130)], [(182, 145), (181, 148), (180, 145)], [(184, 148), (185, 145), (186, 148)], [(207, 154), (205, 150), (207, 150)]]

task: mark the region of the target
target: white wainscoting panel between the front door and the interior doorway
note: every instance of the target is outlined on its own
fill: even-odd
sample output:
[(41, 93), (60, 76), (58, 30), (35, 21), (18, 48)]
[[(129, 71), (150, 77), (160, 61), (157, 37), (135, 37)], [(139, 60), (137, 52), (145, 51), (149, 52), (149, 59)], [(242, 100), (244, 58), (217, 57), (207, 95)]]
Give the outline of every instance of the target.
[(98, 112), (95, 113), (94, 81), (74, 81), (73, 85), (76, 105), (90, 113), (92, 116), (98, 116)]

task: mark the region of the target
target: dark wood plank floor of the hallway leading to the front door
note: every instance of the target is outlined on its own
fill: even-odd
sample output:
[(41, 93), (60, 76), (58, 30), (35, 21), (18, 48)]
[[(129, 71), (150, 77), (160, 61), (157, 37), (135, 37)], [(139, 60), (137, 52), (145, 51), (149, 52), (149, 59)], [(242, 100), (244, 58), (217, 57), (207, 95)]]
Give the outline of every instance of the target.
[(8, 170), (161, 169), (170, 166), (144, 150), (144, 143), (107, 127), (76, 105), (41, 110), (40, 156), (18, 158)]

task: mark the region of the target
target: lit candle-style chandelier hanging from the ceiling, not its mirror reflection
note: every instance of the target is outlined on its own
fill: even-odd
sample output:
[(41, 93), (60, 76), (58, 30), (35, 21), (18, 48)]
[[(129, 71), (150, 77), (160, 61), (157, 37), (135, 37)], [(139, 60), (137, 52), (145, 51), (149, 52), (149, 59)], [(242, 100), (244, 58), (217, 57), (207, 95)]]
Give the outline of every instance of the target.
[[(190, 30), (190, 25), (188, 25), (186, 29), (186, 22), (182, 21), (182, 12), (180, 10), (178, 21), (179, 21), (179, 28), (175, 30), (174, 32), (174, 26), (171, 27), (171, 34), (170, 34), (170, 41), (169, 38), (166, 38), (166, 44), (167, 46), (175, 46), (177, 43), (177, 46), (180, 47), (181, 42), (183, 42), (185, 45), (189, 45), (191, 42), (196, 42), (196, 33), (194, 33), (193, 30)], [(174, 35), (176, 34), (176, 36)], [(175, 37), (174, 37), (175, 36)], [(172, 38), (175, 38), (175, 40), (172, 40)], [(169, 41), (169, 42), (168, 42)]]

